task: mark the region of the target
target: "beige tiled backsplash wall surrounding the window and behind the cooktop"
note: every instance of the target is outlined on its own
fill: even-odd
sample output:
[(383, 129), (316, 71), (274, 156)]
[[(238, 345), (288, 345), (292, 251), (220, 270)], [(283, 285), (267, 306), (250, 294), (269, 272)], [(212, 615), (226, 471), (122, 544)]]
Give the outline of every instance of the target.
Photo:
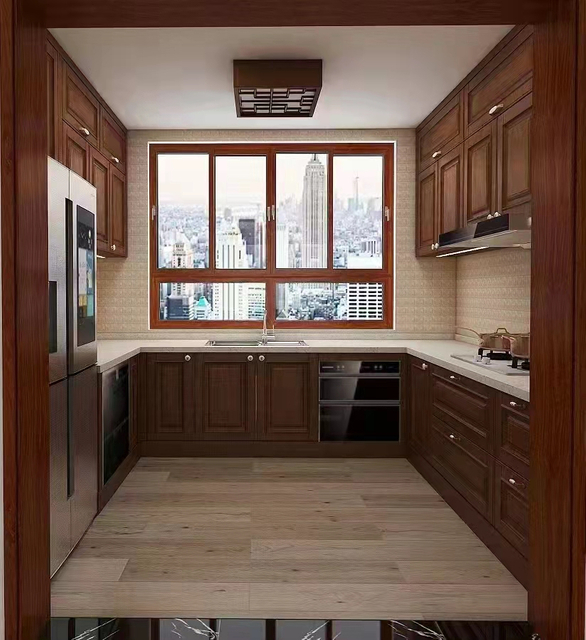
[[(128, 136), (128, 258), (98, 261), (98, 332), (102, 338), (179, 338), (201, 330), (149, 329), (149, 142), (385, 142), (396, 143), (395, 331), (328, 330), (336, 337), (454, 335), (456, 325), (477, 331), (503, 322), (528, 324), (528, 255), (517, 250), (455, 260), (415, 257), (415, 131), (412, 129), (305, 131), (131, 131)], [(499, 257), (498, 254), (503, 254)], [(457, 267), (457, 268), (456, 268)], [(509, 267), (509, 268), (507, 268)], [(525, 268), (526, 267), (526, 268)], [(491, 270), (494, 269), (494, 272)], [(523, 274), (520, 272), (523, 270)], [(458, 271), (458, 277), (456, 272)], [(526, 273), (525, 273), (526, 271)], [(507, 274), (514, 274), (511, 277)], [(510, 282), (508, 281), (510, 279)], [(488, 296), (487, 296), (488, 293)], [(458, 295), (458, 301), (456, 300)], [(482, 308), (481, 300), (486, 308)], [(500, 315), (499, 315), (500, 314)], [(508, 324), (507, 324), (508, 322)], [(511, 326), (509, 326), (509, 324)], [(323, 333), (303, 332), (323, 335)]]

